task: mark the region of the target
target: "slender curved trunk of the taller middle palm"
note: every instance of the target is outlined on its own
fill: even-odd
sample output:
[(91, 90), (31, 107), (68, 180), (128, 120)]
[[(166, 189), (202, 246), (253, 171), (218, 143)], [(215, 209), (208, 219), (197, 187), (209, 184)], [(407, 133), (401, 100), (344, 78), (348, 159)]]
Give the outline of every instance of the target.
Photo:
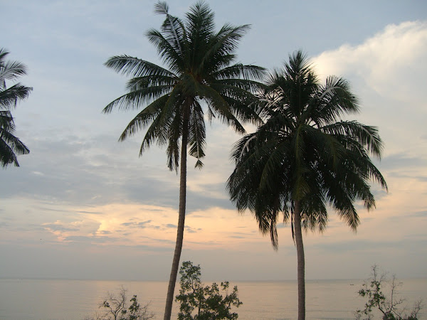
[(179, 260), (181, 258), (182, 242), (184, 239), (184, 222), (186, 206), (186, 154), (187, 142), (189, 136), (189, 106), (184, 107), (182, 119), (182, 144), (181, 144), (181, 169), (179, 172), (179, 213), (178, 230), (176, 231), (176, 242), (174, 251), (174, 260), (172, 260), (172, 270), (169, 277), (169, 286), (167, 287), (166, 306), (164, 308), (164, 320), (170, 320), (172, 314), (172, 303), (174, 302), (174, 291), (176, 284), (176, 275), (178, 274)]

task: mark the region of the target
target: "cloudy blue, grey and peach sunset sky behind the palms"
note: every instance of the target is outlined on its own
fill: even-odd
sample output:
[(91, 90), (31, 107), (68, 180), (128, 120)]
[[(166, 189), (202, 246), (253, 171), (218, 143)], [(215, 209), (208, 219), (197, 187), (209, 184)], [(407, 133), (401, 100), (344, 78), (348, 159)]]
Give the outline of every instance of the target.
[[(135, 112), (101, 111), (127, 78), (105, 68), (112, 55), (161, 64), (144, 36), (163, 16), (152, 0), (0, 0), (0, 47), (28, 67), (33, 92), (13, 114), (31, 150), (0, 169), (0, 277), (167, 280), (178, 219), (179, 176), (166, 150), (139, 157), (144, 132), (118, 142)], [(236, 62), (280, 68), (302, 49), (320, 78), (349, 80), (379, 128), (389, 186), (373, 184), (376, 209), (358, 206), (354, 233), (333, 210), (327, 230), (304, 234), (307, 279), (364, 279), (371, 265), (399, 278), (427, 277), (427, 3), (425, 1), (208, 1), (217, 29), (251, 24)], [(194, 1), (169, 1), (184, 17)], [(11, 85), (9, 83), (9, 85)], [(253, 130), (248, 127), (248, 131)], [(181, 261), (204, 279), (296, 279), (290, 225), (279, 249), (251, 213), (228, 200), (230, 151), (240, 136), (207, 126), (204, 168), (188, 161)]]

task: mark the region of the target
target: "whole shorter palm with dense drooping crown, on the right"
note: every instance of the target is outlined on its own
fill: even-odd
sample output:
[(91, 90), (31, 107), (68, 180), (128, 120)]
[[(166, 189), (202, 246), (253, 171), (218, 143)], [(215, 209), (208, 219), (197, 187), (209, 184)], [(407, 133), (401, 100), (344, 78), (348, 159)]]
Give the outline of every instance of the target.
[(359, 225), (354, 201), (369, 210), (369, 180), (386, 181), (369, 159), (380, 157), (375, 127), (342, 119), (359, 111), (357, 98), (342, 78), (321, 85), (301, 51), (275, 70), (263, 93), (265, 122), (233, 148), (236, 169), (227, 188), (238, 210), (251, 210), (277, 250), (280, 213), (290, 222), (297, 247), (298, 319), (305, 319), (305, 256), (302, 229), (327, 225), (330, 205), (353, 230)]

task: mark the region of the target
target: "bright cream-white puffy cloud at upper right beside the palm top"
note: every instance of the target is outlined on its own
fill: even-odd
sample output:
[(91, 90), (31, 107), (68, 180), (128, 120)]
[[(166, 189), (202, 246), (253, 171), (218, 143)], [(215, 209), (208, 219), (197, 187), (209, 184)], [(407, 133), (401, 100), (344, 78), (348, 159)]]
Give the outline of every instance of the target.
[[(426, 68), (427, 21), (391, 24), (358, 46), (343, 45), (315, 58), (320, 75), (351, 73), (364, 79), (380, 95), (417, 99), (422, 93), (412, 80)], [(357, 68), (354, 68), (357, 66)], [(408, 77), (390, 77), (390, 75)], [(408, 79), (410, 81), (404, 81)], [(415, 94), (415, 95), (414, 95)]]

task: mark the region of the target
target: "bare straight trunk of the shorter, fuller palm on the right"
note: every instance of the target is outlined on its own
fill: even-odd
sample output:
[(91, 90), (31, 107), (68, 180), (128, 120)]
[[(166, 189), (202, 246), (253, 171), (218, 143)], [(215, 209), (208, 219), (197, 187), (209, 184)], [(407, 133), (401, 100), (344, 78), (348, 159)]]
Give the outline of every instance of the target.
[(305, 257), (301, 232), (301, 203), (295, 201), (295, 244), (297, 245), (298, 320), (305, 320)]

